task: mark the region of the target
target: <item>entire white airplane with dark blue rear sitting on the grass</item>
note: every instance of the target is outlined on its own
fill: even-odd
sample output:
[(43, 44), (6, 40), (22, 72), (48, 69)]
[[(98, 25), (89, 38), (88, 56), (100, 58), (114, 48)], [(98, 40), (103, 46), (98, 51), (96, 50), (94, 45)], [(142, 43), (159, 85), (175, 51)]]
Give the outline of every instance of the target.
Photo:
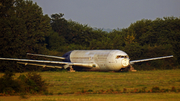
[(17, 58), (0, 58), (0, 60), (17, 61), (17, 63), (24, 65), (68, 69), (70, 72), (75, 72), (76, 70), (124, 71), (127, 69), (136, 71), (132, 67), (132, 64), (134, 63), (173, 57), (173, 55), (170, 55), (148, 59), (130, 60), (128, 54), (122, 50), (73, 50), (65, 53), (62, 57), (32, 53), (27, 53), (27, 55), (55, 58), (62, 61)]

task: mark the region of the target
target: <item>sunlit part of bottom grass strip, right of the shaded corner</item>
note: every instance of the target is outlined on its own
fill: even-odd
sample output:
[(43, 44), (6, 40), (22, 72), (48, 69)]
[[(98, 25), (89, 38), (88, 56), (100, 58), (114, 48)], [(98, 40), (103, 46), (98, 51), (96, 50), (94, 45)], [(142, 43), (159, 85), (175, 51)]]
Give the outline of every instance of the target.
[(178, 101), (179, 94), (90, 94), (34, 97), (31, 101)]

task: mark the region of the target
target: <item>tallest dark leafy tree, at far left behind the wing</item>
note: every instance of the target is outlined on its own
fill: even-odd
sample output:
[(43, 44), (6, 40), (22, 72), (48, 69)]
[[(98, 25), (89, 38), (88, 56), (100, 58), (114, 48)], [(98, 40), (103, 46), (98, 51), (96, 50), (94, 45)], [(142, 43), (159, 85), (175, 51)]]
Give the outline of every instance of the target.
[[(25, 58), (27, 52), (43, 53), (46, 50), (45, 36), (51, 30), (50, 19), (31, 0), (3, 0), (0, 19), (0, 56)], [(2, 7), (1, 7), (2, 8)], [(17, 68), (14, 62), (3, 62), (1, 71)]]

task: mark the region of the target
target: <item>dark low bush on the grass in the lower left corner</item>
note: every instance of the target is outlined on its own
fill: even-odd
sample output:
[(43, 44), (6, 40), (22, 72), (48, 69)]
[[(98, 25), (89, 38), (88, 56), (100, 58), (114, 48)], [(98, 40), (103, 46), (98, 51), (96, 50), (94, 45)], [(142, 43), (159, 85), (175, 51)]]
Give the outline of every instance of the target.
[(12, 72), (6, 72), (0, 78), (0, 93), (17, 94), (17, 93), (43, 93), (47, 92), (48, 84), (42, 80), (37, 73), (28, 73), (27, 75), (20, 75), (18, 79), (13, 79)]

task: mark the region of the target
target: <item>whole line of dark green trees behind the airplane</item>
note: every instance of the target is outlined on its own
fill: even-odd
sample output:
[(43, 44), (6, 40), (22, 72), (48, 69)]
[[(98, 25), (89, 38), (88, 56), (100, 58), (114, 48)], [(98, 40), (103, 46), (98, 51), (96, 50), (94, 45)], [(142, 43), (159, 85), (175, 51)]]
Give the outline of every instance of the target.
[[(42, 13), (31, 0), (0, 1), (0, 57), (33, 58), (26, 53), (62, 56), (76, 49), (120, 49), (131, 60), (174, 55), (173, 59), (157, 60), (134, 65), (138, 70), (175, 69), (180, 64), (180, 18), (142, 19), (128, 28), (111, 32), (92, 28), (64, 14)], [(12, 61), (0, 61), (0, 71), (42, 70)]]

